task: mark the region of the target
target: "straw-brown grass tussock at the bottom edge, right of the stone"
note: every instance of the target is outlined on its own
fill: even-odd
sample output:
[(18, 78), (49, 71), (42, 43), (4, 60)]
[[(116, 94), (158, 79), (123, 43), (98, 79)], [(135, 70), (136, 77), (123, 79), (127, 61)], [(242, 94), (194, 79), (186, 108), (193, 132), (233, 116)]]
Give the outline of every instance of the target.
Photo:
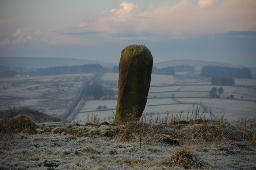
[(188, 147), (179, 148), (168, 160), (169, 166), (180, 166), (185, 169), (206, 169), (206, 163), (199, 160)]

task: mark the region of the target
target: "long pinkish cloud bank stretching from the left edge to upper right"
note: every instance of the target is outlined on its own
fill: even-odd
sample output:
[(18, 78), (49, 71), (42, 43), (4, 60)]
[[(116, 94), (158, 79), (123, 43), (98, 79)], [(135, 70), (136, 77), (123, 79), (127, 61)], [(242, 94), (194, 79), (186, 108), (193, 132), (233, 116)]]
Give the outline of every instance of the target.
[(148, 8), (124, 1), (98, 16), (84, 18), (77, 27), (54, 31), (17, 29), (0, 45), (39, 41), (50, 45), (158, 42), (256, 31), (255, 9), (255, 0), (180, 0), (177, 4), (165, 1), (160, 5), (148, 3)]

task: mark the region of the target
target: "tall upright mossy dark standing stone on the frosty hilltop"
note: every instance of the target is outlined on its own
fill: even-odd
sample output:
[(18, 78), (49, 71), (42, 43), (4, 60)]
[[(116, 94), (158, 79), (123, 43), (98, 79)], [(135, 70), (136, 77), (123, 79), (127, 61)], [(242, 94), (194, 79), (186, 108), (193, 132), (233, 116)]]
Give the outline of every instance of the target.
[(153, 57), (146, 46), (132, 44), (122, 50), (115, 122), (127, 120), (135, 106), (139, 107), (136, 117), (141, 117), (147, 103), (152, 66)]

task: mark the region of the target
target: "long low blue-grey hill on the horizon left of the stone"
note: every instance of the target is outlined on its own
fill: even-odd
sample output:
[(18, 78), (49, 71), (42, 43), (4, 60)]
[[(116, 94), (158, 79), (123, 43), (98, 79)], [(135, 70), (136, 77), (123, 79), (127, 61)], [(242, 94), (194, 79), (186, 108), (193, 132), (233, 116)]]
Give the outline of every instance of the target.
[(47, 68), (56, 66), (73, 66), (84, 64), (101, 64), (103, 67), (113, 67), (115, 63), (105, 63), (94, 60), (76, 58), (45, 58), (45, 57), (0, 57), (1, 65), (5, 67)]

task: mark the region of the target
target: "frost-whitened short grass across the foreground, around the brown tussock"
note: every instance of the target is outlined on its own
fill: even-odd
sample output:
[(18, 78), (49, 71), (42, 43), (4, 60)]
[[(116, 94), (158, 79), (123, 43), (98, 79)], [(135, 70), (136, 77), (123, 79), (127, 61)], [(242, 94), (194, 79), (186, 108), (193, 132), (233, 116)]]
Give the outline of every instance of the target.
[[(112, 126), (77, 126), (52, 122), (38, 124), (42, 134), (23, 134), (15, 140), (1, 141), (1, 170), (184, 170), (170, 167), (167, 160), (176, 150), (184, 147), (148, 140), (120, 141), (120, 137), (104, 137), (103, 129)], [(165, 126), (166, 129), (168, 126)], [(79, 129), (86, 135), (65, 135), (67, 129)], [(189, 128), (187, 128), (189, 130)], [(104, 131), (103, 131), (104, 132)], [(189, 134), (189, 133), (188, 133)], [(186, 147), (209, 170), (256, 169), (256, 148), (242, 143), (194, 143)]]

